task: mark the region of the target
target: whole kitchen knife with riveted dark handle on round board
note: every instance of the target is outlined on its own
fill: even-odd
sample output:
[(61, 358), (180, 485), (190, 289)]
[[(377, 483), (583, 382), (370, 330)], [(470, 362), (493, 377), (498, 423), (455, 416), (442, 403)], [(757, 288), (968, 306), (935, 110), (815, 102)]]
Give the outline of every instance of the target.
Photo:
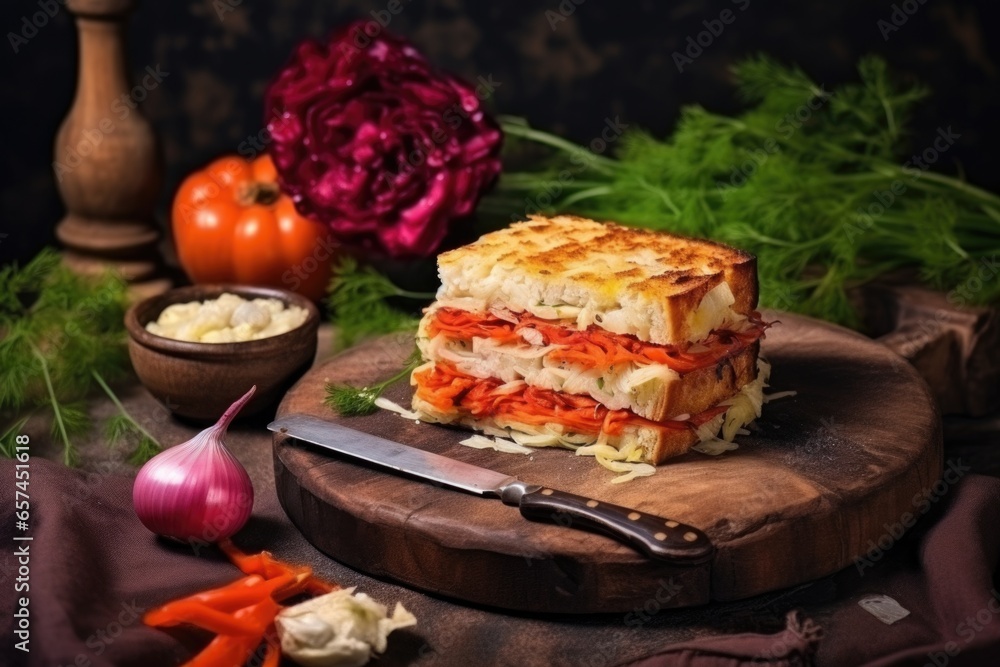
[(498, 497), (528, 519), (597, 531), (651, 558), (697, 565), (712, 558), (708, 536), (693, 526), (552, 488), (379, 438), (308, 415), (267, 425), (283, 434), (401, 473), (484, 497)]

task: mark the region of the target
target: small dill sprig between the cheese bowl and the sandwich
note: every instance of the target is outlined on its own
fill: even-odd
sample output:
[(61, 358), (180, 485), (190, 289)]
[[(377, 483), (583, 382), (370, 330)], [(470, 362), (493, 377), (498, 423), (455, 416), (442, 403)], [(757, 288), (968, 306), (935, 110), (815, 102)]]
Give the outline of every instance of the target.
[(359, 267), (352, 257), (341, 259), (333, 274), (328, 303), (337, 326), (337, 350), (351, 347), (369, 336), (416, 330), (419, 320), (392, 307), (387, 299), (402, 297), (427, 301), (434, 298), (430, 292), (411, 292), (397, 287), (372, 267)]

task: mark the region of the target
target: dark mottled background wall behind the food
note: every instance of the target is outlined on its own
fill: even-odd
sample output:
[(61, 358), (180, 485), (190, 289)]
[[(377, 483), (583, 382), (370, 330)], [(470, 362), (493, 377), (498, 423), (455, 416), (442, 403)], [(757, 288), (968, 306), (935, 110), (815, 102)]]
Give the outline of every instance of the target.
[[(440, 67), (469, 79), (492, 75), (500, 82), (493, 98), (498, 111), (584, 142), (597, 136), (609, 115), (663, 134), (685, 104), (737, 110), (727, 68), (748, 53), (767, 51), (797, 62), (830, 86), (853, 76), (859, 56), (881, 53), (901, 76), (933, 88), (915, 119), (914, 145), (926, 145), (939, 126), (953, 126), (961, 139), (948, 164), (936, 166), (1000, 189), (1000, 11), (990, 0), (401, 2), (390, 30), (411, 38)], [(23, 17), (39, 11), (37, 3), (4, 0), (0, 10), (3, 261), (30, 257), (53, 242), (62, 215), (52, 144), (73, 96), (76, 36), (60, 5), (15, 53), (10, 33), (22, 33)], [(159, 66), (169, 73), (141, 103), (165, 149), (160, 219), (184, 174), (235, 152), (261, 129), (263, 91), (299, 40), (370, 18), (387, 5), (141, 2), (129, 27), (131, 70)], [(890, 19), (894, 5), (913, 13), (884, 35), (878, 22)], [(732, 24), (678, 72), (672, 54), (727, 8), (736, 17)]]

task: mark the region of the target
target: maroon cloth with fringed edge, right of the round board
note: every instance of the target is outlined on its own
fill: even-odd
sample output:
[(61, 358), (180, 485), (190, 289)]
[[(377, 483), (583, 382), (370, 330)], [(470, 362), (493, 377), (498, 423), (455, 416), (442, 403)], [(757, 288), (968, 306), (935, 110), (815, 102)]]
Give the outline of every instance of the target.
[[(824, 629), (797, 613), (778, 634), (673, 644), (630, 667), (739, 665), (1000, 665), (1000, 480), (969, 475), (927, 499), (941, 504), (912, 531), (887, 526), (836, 577), (840, 603)], [(860, 604), (888, 596), (909, 614), (884, 623)], [(883, 598), (884, 599), (884, 598)], [(889, 620), (892, 620), (889, 617)], [(824, 638), (825, 635), (825, 638)], [(822, 639), (821, 639), (822, 638)]]

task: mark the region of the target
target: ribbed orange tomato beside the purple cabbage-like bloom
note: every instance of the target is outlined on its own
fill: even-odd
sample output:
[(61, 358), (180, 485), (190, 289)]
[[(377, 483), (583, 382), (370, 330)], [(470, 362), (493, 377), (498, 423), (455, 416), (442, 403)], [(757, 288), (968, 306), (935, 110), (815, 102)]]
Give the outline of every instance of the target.
[(196, 283), (280, 287), (314, 301), (326, 293), (337, 244), (279, 191), (267, 155), (219, 158), (188, 176), (171, 225), (181, 266)]

